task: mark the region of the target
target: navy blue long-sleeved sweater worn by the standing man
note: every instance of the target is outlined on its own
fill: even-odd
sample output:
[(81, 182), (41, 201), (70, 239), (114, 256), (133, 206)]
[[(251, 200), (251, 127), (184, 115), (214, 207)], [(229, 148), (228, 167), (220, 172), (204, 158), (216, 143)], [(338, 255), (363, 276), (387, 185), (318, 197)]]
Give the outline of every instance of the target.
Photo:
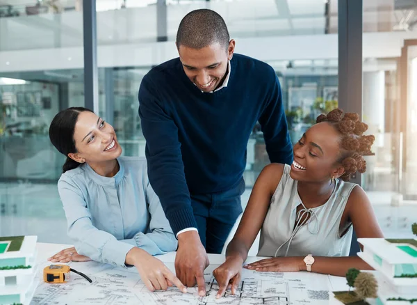
[(175, 234), (197, 228), (190, 194), (240, 182), (256, 121), (270, 161), (293, 162), (277, 75), (254, 58), (234, 54), (227, 87), (214, 93), (199, 91), (179, 58), (158, 65), (140, 84), (139, 115), (149, 181)]

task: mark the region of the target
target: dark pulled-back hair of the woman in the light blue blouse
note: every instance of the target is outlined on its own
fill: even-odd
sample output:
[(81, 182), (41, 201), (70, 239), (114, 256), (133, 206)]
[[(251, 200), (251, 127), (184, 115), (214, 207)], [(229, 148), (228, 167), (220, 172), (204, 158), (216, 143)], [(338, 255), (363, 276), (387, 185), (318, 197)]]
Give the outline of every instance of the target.
[(78, 116), (83, 111), (90, 111), (90, 109), (83, 107), (72, 107), (60, 111), (52, 120), (49, 126), (49, 139), (55, 148), (67, 157), (63, 165), (63, 173), (76, 169), (80, 164), (68, 157), (69, 153), (76, 153), (74, 130)]

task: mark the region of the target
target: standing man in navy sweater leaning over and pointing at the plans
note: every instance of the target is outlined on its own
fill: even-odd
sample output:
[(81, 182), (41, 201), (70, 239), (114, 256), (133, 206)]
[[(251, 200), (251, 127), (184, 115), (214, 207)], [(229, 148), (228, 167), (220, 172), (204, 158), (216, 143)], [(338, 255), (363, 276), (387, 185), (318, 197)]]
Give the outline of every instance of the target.
[(197, 280), (200, 295), (206, 253), (222, 251), (242, 212), (256, 122), (270, 161), (293, 162), (275, 71), (234, 47), (220, 15), (195, 10), (179, 25), (179, 58), (149, 71), (139, 89), (149, 180), (179, 241), (177, 276), (188, 287)]

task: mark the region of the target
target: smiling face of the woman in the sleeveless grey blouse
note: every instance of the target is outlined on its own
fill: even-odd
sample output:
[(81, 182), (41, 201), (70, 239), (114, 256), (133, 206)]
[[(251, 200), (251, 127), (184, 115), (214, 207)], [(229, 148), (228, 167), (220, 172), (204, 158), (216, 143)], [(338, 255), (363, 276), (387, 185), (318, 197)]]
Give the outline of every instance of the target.
[(291, 178), (302, 182), (323, 182), (338, 178), (343, 166), (341, 157), (341, 134), (329, 123), (313, 125), (294, 146), (294, 162)]

